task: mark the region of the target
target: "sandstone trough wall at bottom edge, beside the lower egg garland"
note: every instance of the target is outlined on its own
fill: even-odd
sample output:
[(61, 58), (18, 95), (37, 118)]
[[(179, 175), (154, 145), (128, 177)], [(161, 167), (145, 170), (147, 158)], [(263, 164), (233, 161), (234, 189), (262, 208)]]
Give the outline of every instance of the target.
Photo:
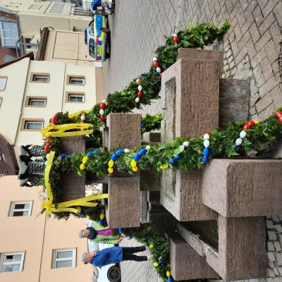
[(170, 243), (171, 276), (178, 280), (217, 278), (218, 274), (178, 233), (166, 233)]

